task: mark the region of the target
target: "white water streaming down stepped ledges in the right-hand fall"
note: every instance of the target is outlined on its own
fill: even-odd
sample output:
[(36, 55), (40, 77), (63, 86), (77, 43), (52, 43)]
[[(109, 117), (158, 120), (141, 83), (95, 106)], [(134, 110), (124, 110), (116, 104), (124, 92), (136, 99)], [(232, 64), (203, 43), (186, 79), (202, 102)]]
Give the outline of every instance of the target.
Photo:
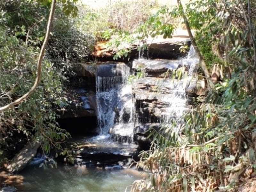
[[(184, 112), (187, 110), (187, 94), (186, 94), (186, 88), (188, 85), (191, 83), (193, 74), (195, 73), (196, 70), (196, 64), (199, 62), (199, 59), (195, 53), (194, 47), (191, 46), (188, 54), (180, 58), (179, 60), (146, 60), (143, 58), (140, 58), (139, 60), (136, 61), (136, 63), (143, 63), (144, 66), (148, 68), (148, 70), (161, 70), (161, 68), (168, 68), (168, 70), (172, 71), (176, 68), (179, 68), (180, 66), (183, 66), (185, 68), (188, 68), (187, 74), (183, 73), (184, 77), (182, 77), (180, 80), (173, 79), (170, 81), (170, 79), (163, 80), (163, 78), (157, 79), (155, 78), (155, 83), (150, 83), (149, 84), (154, 84), (156, 87), (162, 87), (166, 88), (169, 91), (169, 93), (164, 93), (162, 96), (158, 96), (158, 99), (160, 102), (163, 102), (167, 107), (162, 108), (161, 112), (161, 118), (158, 119), (158, 123), (165, 124), (165, 126), (170, 126), (171, 124), (176, 124), (174, 126), (175, 131), (179, 131), (179, 126), (182, 124), (182, 116)], [(135, 65), (136, 65), (135, 63)], [(149, 80), (150, 81), (150, 80)], [(160, 84), (157, 83), (157, 81), (161, 82)], [(145, 82), (145, 84), (147, 84)], [(172, 84), (172, 85), (170, 85)], [(162, 91), (162, 90), (161, 90)], [(159, 93), (152, 93), (151, 94), (156, 94), (159, 95)], [(143, 108), (145, 106), (142, 105), (140, 106), (141, 113), (143, 114)], [(154, 110), (154, 109), (153, 109)], [(150, 115), (148, 117), (148, 123), (151, 123)], [(144, 121), (141, 121), (142, 118), (138, 118), (137, 116), (137, 121), (136, 124), (143, 124), (145, 123)], [(139, 119), (139, 120), (138, 120)]]

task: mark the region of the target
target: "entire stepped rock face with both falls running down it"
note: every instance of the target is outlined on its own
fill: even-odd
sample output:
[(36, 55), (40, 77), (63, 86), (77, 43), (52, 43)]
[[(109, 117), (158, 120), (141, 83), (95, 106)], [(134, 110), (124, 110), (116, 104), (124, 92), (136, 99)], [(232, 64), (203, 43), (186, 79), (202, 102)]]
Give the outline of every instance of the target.
[[(82, 91), (75, 90), (73, 85), (71, 95), (76, 97), (72, 99), (73, 106), (62, 114), (62, 126), (76, 119), (80, 124), (84, 124), (83, 130), (87, 130), (92, 129), (89, 127), (95, 123), (93, 131), (87, 130), (86, 133), (97, 133), (95, 128), (98, 127), (99, 137), (108, 137), (107, 140), (98, 136), (83, 138), (80, 144), (76, 140), (76, 147), (72, 149), (78, 164), (115, 164), (136, 156), (137, 144), (139, 149), (149, 147), (152, 138), (148, 138), (148, 135), (152, 130), (159, 131), (162, 124), (172, 124), (187, 110), (187, 95), (190, 97), (195, 94), (197, 81), (188, 83), (186, 79), (178, 81), (170, 77), (178, 69), (193, 72), (190, 69), (195, 60), (190, 61), (191, 57), (178, 59), (185, 54), (180, 53), (180, 47), (189, 45), (190, 41), (184, 37), (151, 40), (147, 43), (149, 58), (160, 59), (133, 60), (133, 73), (136, 75), (142, 72), (145, 75), (132, 84), (126, 84), (126, 77), (130, 75), (131, 70), (124, 62), (76, 64), (76, 78), (82, 79), (82, 83), (78, 82), (77, 85)], [(134, 45), (136, 46), (138, 45)], [(109, 52), (104, 53), (104, 49), (100, 52), (103, 54), (101, 59), (108, 60), (113, 57), (113, 54), (105, 54)], [(138, 58), (138, 55), (138, 51), (133, 49), (129, 57), (134, 59)], [(90, 80), (94, 88), (86, 84), (86, 79)], [(74, 127), (72, 124), (68, 126)], [(81, 129), (81, 125), (77, 126)]]

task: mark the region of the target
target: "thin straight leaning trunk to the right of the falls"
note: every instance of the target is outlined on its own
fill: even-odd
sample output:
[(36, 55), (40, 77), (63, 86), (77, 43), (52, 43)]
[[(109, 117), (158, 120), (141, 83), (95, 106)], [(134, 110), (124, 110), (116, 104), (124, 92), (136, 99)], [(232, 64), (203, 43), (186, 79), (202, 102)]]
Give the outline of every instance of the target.
[(201, 55), (201, 52), (199, 51), (199, 49), (197, 47), (195, 38), (194, 38), (194, 36), (193, 36), (193, 34), (191, 32), (191, 28), (189, 26), (188, 19), (187, 19), (186, 15), (185, 15), (185, 12), (183, 10), (183, 7), (182, 7), (182, 4), (181, 4), (180, 0), (177, 0), (177, 3), (178, 3), (178, 5), (180, 7), (180, 10), (182, 12), (182, 17), (183, 17), (184, 23), (186, 25), (186, 28), (187, 28), (188, 35), (189, 35), (189, 38), (191, 40), (191, 43), (192, 43), (192, 45), (193, 45), (193, 47), (194, 47), (194, 49), (196, 51), (196, 54), (199, 57), (199, 63), (200, 63), (200, 66), (202, 67), (202, 69), (204, 71), (204, 76), (206, 77), (207, 84), (208, 84), (209, 88), (212, 88), (213, 87), (213, 83), (211, 81), (211, 76), (210, 76), (209, 71), (208, 71), (208, 69), (206, 67), (206, 64), (205, 64), (204, 59), (203, 59), (203, 57)]

